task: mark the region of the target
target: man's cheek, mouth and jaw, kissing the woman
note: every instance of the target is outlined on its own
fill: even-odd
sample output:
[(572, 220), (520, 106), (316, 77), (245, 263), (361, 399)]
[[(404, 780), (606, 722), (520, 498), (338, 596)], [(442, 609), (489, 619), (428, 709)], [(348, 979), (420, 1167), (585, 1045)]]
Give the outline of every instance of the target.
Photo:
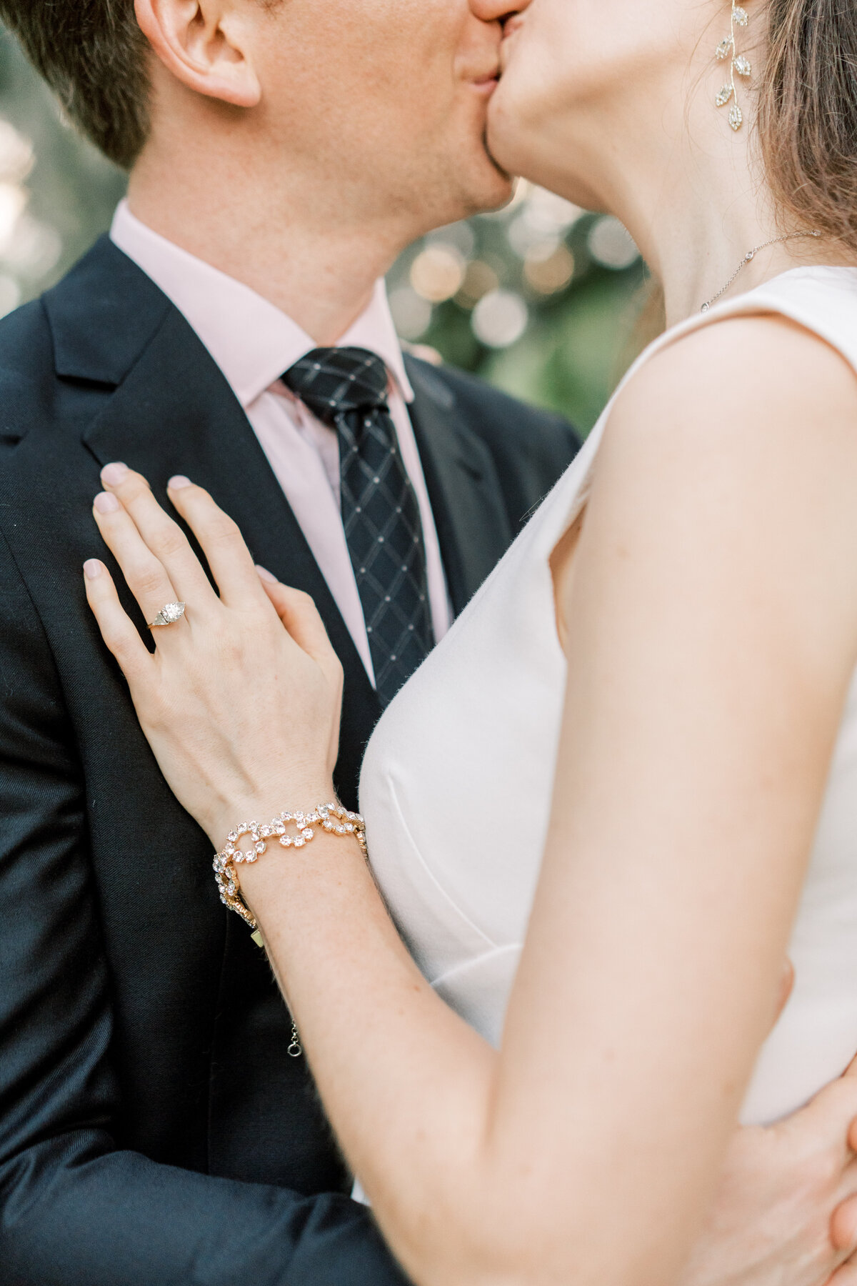
[(262, 13), (265, 131), (297, 172), (335, 176), (343, 219), (376, 206), (419, 235), (509, 199), (484, 143), (499, 22), (468, 0), (283, 0)]

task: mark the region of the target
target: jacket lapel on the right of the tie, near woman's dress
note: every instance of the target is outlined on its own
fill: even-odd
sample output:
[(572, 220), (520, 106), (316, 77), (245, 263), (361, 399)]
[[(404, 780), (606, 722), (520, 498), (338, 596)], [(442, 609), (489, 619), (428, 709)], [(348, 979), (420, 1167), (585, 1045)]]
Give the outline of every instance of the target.
[(432, 368), (406, 363), (415, 394), (411, 422), (457, 615), (511, 544), (513, 530), (488, 448), (468, 428), (451, 390)]

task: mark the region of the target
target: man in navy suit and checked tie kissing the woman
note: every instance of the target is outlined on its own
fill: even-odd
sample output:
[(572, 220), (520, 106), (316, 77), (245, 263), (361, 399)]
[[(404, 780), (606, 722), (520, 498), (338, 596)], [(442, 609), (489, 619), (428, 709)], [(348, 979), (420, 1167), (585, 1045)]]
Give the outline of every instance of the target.
[[(355, 802), (380, 709), (576, 450), (402, 359), (378, 285), (509, 197), (483, 144), (500, 28), (466, 0), (0, 13), (131, 171), (113, 239), (0, 327), (0, 1283), (401, 1283), (80, 568), (108, 462), (206, 485), (321, 610)], [(353, 392), (362, 368), (383, 395)], [(856, 1088), (739, 1136), (695, 1282), (812, 1286), (847, 1259)]]

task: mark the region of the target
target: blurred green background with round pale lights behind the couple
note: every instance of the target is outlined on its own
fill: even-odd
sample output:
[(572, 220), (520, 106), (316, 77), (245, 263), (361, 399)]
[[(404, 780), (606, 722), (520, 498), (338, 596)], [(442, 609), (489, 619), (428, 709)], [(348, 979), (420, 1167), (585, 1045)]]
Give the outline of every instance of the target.
[[(123, 188), (0, 28), (0, 316), (71, 267)], [(389, 291), (402, 340), (583, 432), (646, 338), (645, 270), (622, 225), (523, 183), (502, 212), (412, 246)]]

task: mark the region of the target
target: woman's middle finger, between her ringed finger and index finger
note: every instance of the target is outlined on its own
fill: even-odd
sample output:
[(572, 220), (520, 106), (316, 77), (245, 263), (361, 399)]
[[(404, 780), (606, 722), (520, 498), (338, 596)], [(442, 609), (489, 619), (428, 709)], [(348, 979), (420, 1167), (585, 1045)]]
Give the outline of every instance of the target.
[(179, 598), (193, 604), (197, 612), (209, 606), (216, 597), (211, 581), (186, 535), (158, 504), (146, 480), (117, 463), (102, 469), (102, 482), (130, 513), (146, 545), (166, 567)]

